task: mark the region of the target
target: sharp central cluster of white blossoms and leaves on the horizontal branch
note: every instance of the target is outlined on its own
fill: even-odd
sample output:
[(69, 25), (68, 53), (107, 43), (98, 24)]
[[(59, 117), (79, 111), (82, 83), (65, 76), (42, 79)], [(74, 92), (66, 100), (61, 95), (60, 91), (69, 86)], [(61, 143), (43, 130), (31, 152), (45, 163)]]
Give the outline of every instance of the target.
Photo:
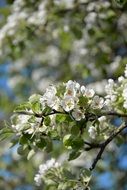
[[(50, 133), (52, 136), (52, 133), (53, 135), (55, 133), (57, 138), (61, 138), (57, 132), (57, 125), (59, 123), (59, 127), (63, 128), (69, 116), (70, 128), (63, 129), (64, 135), (73, 128), (75, 122), (84, 121), (83, 130), (88, 131), (89, 137), (95, 139), (99, 135), (97, 128), (99, 127), (99, 132), (102, 132), (104, 128), (102, 125), (105, 125), (105, 122), (95, 118), (95, 114), (97, 110), (100, 112), (104, 109), (104, 105), (104, 99), (96, 95), (92, 88), (80, 86), (79, 83), (69, 80), (61, 86), (49, 86), (43, 96), (32, 95), (29, 102), (24, 105), (26, 106), (24, 111), (27, 113), (14, 114), (12, 117), (12, 128), (17, 135), (24, 133), (33, 137), (36, 134)], [(62, 123), (59, 121), (59, 114), (64, 121)], [(89, 121), (88, 116), (91, 116), (93, 121)], [(35, 142), (37, 143), (37, 138)]]

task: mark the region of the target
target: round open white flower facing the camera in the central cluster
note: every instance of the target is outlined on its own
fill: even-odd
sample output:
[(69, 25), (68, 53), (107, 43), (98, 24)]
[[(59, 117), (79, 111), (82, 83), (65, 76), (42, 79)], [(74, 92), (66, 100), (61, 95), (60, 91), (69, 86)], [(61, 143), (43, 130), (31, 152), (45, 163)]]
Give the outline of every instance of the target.
[(70, 96), (65, 96), (61, 101), (61, 106), (66, 112), (69, 112), (75, 107), (75, 99)]

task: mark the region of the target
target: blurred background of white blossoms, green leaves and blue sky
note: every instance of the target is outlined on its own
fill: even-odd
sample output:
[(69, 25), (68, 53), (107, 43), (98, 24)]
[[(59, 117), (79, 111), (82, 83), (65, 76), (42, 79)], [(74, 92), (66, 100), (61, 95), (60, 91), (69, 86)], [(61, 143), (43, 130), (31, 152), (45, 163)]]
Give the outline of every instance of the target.
[[(127, 64), (127, 3), (119, 2), (0, 0), (1, 129), (17, 104), (42, 94), (49, 84), (71, 79), (104, 95), (107, 79), (117, 79)], [(9, 139), (0, 143), (0, 189), (39, 189), (33, 178), (49, 155), (37, 152), (28, 161), (17, 154), (17, 146), (9, 148)], [(53, 154), (65, 156), (59, 145)], [(83, 155), (72, 165), (87, 163)], [(127, 190), (126, 133), (107, 148), (91, 189)]]

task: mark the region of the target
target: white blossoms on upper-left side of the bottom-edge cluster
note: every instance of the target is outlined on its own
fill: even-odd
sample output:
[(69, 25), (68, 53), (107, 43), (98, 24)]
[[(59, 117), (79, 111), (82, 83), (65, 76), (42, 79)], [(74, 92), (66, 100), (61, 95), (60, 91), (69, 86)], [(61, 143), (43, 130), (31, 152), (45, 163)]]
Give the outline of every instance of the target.
[(41, 185), (43, 177), (48, 170), (50, 170), (52, 168), (58, 168), (59, 166), (60, 166), (60, 164), (58, 162), (56, 162), (54, 158), (52, 158), (51, 160), (48, 160), (45, 164), (41, 164), (39, 166), (38, 174), (36, 174), (34, 177), (34, 181), (35, 181), (36, 185), (37, 186)]

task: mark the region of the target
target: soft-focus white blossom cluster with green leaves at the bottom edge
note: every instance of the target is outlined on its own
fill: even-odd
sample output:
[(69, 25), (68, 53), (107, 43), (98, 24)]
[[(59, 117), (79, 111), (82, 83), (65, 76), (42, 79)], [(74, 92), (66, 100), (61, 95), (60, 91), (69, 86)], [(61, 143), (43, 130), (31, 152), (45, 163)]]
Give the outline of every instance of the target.
[[(87, 174), (86, 174), (87, 172)], [(67, 180), (65, 180), (65, 176), (67, 176)], [(77, 174), (76, 174), (77, 175)], [(39, 171), (34, 177), (34, 181), (37, 186), (41, 186), (43, 184), (47, 184), (55, 187), (56, 189), (62, 188), (67, 190), (80, 190), (88, 187), (88, 183), (91, 179), (91, 172), (87, 169), (83, 169), (79, 171), (78, 178), (79, 180), (75, 180), (75, 174), (71, 171), (70, 167), (63, 166), (56, 162), (54, 158), (46, 161), (45, 164), (39, 166)]]

